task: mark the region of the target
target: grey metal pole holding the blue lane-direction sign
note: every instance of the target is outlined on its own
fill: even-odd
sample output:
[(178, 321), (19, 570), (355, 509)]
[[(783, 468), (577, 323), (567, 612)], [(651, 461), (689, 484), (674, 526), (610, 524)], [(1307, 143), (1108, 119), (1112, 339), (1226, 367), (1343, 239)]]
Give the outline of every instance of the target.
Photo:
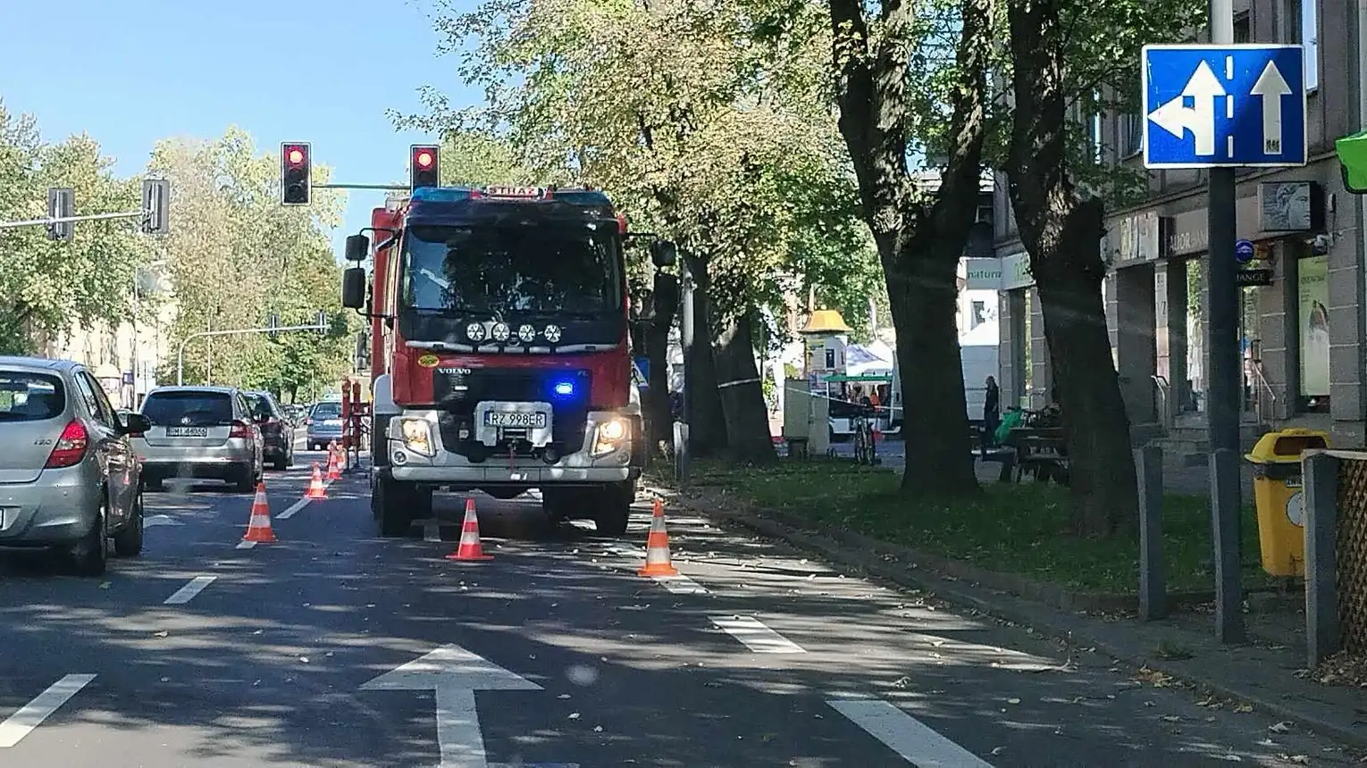
[[(1233, 0), (1210, 0), (1211, 45), (1234, 44)], [(1228, 98), (1228, 97), (1226, 97)], [(1210, 381), (1206, 415), (1210, 420), (1211, 526), (1215, 540), (1215, 633), (1222, 642), (1243, 642), (1244, 615), (1239, 573), (1240, 471), (1239, 421), (1243, 413), (1239, 350), (1239, 288), (1234, 243), (1237, 186), (1233, 168), (1211, 168), (1207, 194), (1207, 342)]]

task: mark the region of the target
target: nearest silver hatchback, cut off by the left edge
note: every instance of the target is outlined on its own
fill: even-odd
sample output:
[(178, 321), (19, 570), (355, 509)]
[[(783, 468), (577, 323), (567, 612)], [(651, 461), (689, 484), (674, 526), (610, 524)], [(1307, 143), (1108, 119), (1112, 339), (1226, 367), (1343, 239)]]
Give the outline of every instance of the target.
[(142, 481), (120, 417), (83, 366), (0, 357), (0, 547), (57, 547), (100, 575), (108, 540), (142, 552)]

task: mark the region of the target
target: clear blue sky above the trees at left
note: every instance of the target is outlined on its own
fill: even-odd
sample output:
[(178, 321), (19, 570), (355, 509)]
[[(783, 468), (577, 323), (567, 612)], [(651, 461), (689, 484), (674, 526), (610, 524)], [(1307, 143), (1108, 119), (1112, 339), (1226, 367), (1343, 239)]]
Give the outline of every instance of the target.
[[(0, 0), (0, 98), (48, 139), (89, 133), (120, 175), (139, 174), (160, 138), (236, 124), (271, 152), (313, 142), (338, 182), (398, 182), (409, 145), (431, 137), (395, 131), (385, 109), (417, 111), (422, 85), (478, 98), (437, 57), (429, 12), (427, 0)], [(383, 201), (351, 191), (334, 239)]]

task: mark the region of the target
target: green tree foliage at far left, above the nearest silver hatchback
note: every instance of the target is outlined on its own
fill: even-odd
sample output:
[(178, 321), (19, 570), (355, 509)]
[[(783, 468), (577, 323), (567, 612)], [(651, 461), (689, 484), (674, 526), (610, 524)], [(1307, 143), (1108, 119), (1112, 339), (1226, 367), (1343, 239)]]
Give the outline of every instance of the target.
[[(116, 178), (113, 161), (89, 135), (46, 143), (31, 116), (0, 102), (0, 220), (42, 219), (48, 187), (71, 187), (77, 213), (135, 210), (137, 182)], [(127, 314), (135, 269), (146, 261), (128, 221), (90, 221), (71, 242), (44, 227), (0, 230), (0, 353), (33, 353), (38, 340), (92, 321)]]

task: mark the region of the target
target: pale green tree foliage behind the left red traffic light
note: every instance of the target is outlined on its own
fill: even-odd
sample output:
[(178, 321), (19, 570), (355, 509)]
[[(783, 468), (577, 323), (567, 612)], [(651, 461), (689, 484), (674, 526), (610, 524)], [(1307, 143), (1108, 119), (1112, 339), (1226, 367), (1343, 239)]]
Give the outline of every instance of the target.
[[(310, 206), (282, 206), (279, 159), (258, 153), (236, 128), (216, 141), (164, 141), (149, 171), (171, 180), (172, 231), (159, 247), (175, 286), (178, 312), (170, 329), (175, 347), (201, 331), (264, 327), (272, 313), (282, 325), (313, 324), (320, 309), (332, 318), (327, 336), (193, 339), (185, 354), (186, 381), (294, 396), (350, 373), (354, 340), (324, 230), (340, 223), (342, 195), (314, 189)], [(314, 183), (327, 179), (328, 169), (314, 164)], [(175, 376), (175, 364), (167, 361), (164, 377)]]

